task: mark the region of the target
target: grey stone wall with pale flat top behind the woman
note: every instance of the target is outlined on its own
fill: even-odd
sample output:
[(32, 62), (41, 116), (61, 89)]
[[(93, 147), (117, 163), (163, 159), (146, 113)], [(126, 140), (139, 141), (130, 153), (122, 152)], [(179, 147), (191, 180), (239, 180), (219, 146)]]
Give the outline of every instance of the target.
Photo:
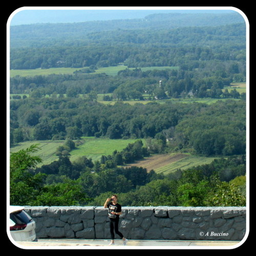
[[(110, 239), (108, 209), (95, 206), (26, 206), (37, 238)], [(133, 240), (240, 241), (245, 207), (122, 207), (119, 230)], [(120, 239), (116, 236), (116, 239)]]

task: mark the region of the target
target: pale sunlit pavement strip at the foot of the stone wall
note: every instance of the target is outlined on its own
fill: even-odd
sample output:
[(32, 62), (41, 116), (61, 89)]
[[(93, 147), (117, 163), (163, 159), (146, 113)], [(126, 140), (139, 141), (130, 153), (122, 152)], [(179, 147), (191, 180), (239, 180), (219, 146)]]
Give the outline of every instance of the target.
[(101, 239), (38, 239), (37, 242), (15, 242), (17, 247), (23, 249), (233, 249), (242, 243), (239, 241), (166, 241), (166, 240), (128, 240), (126, 246), (122, 240), (115, 240), (115, 245), (109, 245), (110, 240)]

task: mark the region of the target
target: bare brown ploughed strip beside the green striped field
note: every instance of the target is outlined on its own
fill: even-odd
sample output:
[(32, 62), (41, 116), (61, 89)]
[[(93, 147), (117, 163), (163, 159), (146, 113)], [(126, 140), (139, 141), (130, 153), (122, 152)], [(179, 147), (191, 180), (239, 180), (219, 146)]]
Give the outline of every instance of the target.
[(147, 171), (149, 172), (152, 169), (157, 169), (161, 166), (164, 166), (169, 163), (176, 162), (184, 157), (187, 157), (185, 154), (177, 154), (174, 156), (170, 156), (169, 154), (161, 154), (161, 155), (155, 155), (152, 157), (145, 158), (141, 161), (136, 161), (135, 163), (126, 165), (127, 167), (130, 166), (139, 166), (143, 168), (147, 168)]

